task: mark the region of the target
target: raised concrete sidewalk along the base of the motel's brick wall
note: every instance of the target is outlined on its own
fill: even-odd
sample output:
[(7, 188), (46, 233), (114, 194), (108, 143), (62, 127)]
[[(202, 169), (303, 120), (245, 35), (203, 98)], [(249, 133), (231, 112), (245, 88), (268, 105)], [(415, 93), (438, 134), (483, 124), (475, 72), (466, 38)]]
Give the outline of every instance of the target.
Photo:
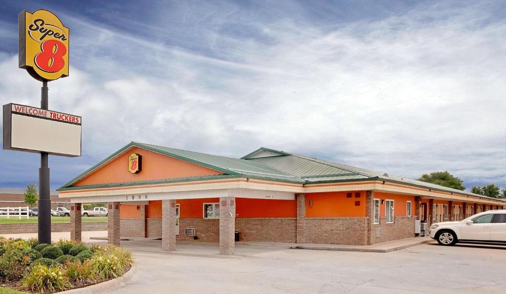
[(338, 250), (338, 251), (361, 251), (361, 252), (392, 252), (420, 244), (435, 242), (431, 237), (406, 238), (374, 245), (335, 245), (335, 244), (297, 244), (297, 243), (271, 243), (271, 242), (237, 242), (241, 245), (283, 246), (294, 249), (313, 250)]

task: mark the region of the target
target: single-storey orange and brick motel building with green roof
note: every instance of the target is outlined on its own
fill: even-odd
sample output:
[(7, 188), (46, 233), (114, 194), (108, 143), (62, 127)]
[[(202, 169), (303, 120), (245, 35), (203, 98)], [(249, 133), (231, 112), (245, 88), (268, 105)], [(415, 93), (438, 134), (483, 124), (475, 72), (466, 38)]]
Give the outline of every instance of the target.
[[(261, 148), (241, 159), (132, 142), (65, 183), (71, 238), (81, 203), (107, 203), (108, 242), (121, 237), (371, 245), (502, 208), (502, 200), (383, 172)], [(418, 230), (416, 230), (418, 232)]]

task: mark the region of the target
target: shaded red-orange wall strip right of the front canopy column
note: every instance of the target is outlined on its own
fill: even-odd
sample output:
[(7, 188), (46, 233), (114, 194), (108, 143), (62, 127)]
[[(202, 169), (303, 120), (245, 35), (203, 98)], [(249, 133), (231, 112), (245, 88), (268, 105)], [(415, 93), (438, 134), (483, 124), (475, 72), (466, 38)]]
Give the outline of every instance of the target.
[(236, 217), (297, 217), (297, 200), (236, 198)]

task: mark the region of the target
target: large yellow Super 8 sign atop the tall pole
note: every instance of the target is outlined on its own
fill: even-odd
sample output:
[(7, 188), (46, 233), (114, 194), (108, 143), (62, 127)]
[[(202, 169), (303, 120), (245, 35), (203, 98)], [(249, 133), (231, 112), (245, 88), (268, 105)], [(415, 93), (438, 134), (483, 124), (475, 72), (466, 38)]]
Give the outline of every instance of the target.
[(69, 31), (52, 12), (19, 14), (19, 67), (39, 81), (68, 77)]

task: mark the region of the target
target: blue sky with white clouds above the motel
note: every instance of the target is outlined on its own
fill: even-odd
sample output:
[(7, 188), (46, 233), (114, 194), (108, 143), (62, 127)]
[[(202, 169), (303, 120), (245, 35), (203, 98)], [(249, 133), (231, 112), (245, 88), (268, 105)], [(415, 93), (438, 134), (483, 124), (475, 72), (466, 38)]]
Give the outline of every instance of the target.
[[(0, 102), (40, 103), (17, 15), (45, 8), (71, 46), (50, 109), (83, 119), (83, 156), (50, 157), (52, 188), (130, 141), (506, 187), (506, 2), (381, 3), (3, 1)], [(0, 166), (22, 188), (39, 155), (0, 150)]]

